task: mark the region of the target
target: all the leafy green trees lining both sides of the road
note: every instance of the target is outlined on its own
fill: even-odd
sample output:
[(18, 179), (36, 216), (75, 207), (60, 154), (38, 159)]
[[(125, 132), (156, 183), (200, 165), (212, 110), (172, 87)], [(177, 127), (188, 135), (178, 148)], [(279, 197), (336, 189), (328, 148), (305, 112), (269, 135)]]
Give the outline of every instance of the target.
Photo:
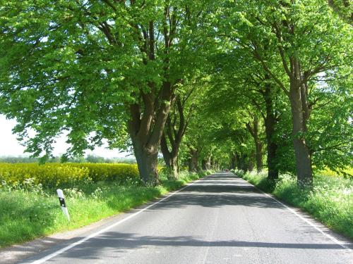
[[(107, 139), (145, 184), (181, 166), (268, 168), (312, 185), (352, 160), (346, 1), (7, 1), (0, 112), (34, 156)], [(35, 137), (28, 131), (35, 130)]]

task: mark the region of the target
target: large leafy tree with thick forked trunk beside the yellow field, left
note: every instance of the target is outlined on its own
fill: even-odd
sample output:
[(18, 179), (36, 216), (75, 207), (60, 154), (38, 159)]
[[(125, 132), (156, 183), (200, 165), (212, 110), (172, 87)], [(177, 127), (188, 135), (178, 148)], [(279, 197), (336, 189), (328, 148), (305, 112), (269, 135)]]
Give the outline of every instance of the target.
[(49, 155), (68, 132), (80, 154), (129, 135), (145, 184), (177, 84), (196, 67), (208, 1), (7, 1), (0, 6), (1, 113), (28, 151)]

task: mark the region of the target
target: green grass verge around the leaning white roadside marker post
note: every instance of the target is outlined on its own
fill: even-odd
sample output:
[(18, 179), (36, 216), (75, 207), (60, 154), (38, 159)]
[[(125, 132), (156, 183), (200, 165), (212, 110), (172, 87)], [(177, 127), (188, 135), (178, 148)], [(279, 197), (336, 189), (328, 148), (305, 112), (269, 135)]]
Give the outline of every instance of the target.
[(61, 212), (54, 189), (43, 191), (42, 187), (31, 182), (15, 188), (3, 186), (0, 188), (0, 247), (88, 225), (179, 189), (205, 175), (205, 172), (181, 173), (179, 180), (174, 181), (162, 177), (157, 187), (86, 182), (64, 189), (70, 222)]

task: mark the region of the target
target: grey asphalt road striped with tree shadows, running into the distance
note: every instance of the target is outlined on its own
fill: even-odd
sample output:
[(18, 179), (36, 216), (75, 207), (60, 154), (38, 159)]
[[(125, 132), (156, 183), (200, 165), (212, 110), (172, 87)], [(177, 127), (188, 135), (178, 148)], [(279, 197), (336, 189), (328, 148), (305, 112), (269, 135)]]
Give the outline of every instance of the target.
[(24, 263), (353, 263), (352, 251), (344, 249), (352, 247), (349, 241), (337, 243), (225, 173), (203, 178), (140, 213), (126, 213), (119, 222)]

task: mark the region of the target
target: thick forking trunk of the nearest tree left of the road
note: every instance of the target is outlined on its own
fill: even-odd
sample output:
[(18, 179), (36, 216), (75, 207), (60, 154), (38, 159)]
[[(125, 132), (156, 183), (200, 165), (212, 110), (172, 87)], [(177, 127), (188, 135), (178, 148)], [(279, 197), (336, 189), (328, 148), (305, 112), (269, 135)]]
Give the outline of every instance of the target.
[[(132, 1), (130, 4), (131, 6), (134, 5)], [(112, 7), (112, 5), (110, 6)], [(169, 7), (166, 9), (167, 13), (169, 13), (168, 10)], [(136, 101), (134, 103), (126, 103), (128, 107), (126, 110), (130, 114), (128, 132), (133, 143), (133, 151), (138, 163), (140, 178), (146, 185), (155, 185), (158, 183), (158, 147), (160, 146), (170, 107), (175, 99), (174, 77), (171, 78), (169, 76), (169, 51), (174, 43), (174, 33), (177, 27), (172, 25), (170, 18), (170, 27), (168, 27), (167, 15), (164, 16), (164, 18), (162, 36), (160, 36), (164, 38), (164, 47), (160, 47), (160, 52), (163, 52), (165, 55), (162, 60), (163, 73), (161, 73), (160, 76), (162, 83), (160, 84), (160, 82), (150, 80), (147, 83), (148, 90), (145, 89), (146, 87), (140, 87), (138, 92), (136, 91)], [(142, 59), (145, 65), (149, 65), (150, 62), (155, 61), (155, 25), (153, 20), (145, 21), (145, 29), (140, 30), (138, 23), (131, 20), (131, 26), (134, 28), (133, 40), (136, 41), (136, 49), (139, 49), (141, 54), (146, 55), (143, 56)], [(160, 27), (160, 25), (158, 25), (158, 27)], [(106, 34), (105, 31), (106, 30), (102, 30), (104, 34)], [(109, 42), (112, 42), (112, 35), (106, 35)], [(173, 82), (171, 80), (173, 80)], [(160, 87), (157, 87), (159, 85)]]

